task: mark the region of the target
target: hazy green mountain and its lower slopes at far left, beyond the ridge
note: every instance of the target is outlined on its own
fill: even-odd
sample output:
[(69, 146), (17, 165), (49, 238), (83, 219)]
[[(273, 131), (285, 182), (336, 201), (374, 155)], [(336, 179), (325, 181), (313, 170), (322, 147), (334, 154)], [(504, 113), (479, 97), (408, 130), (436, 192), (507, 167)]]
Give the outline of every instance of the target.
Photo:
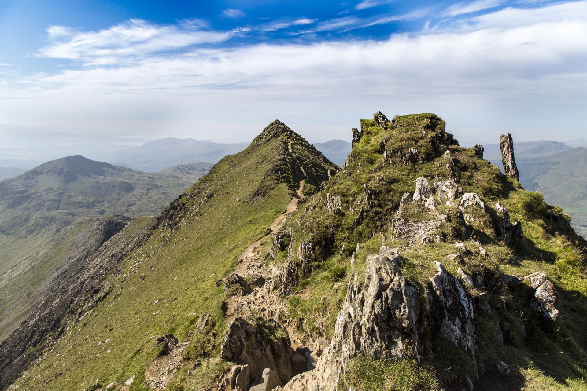
[(47, 294), (37, 288), (51, 286), (46, 276), (59, 274), (53, 267), (64, 258), (83, 261), (130, 217), (160, 213), (210, 167), (147, 173), (70, 156), (1, 181), (0, 341)]

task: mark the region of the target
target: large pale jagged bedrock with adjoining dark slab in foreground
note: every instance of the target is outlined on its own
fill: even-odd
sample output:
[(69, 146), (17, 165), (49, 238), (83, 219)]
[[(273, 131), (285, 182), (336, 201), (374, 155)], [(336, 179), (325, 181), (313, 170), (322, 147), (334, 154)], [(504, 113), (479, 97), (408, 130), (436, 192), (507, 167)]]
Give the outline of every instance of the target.
[(460, 281), (437, 263), (438, 273), (430, 278), (428, 303), (423, 305), (416, 288), (401, 274), (400, 256), (382, 253), (391, 258), (367, 256), (364, 283), (359, 274), (350, 277), (332, 342), (316, 368), (276, 390), (336, 390), (350, 360), (358, 355), (433, 359), (431, 341), (440, 336), (474, 355), (473, 302)]

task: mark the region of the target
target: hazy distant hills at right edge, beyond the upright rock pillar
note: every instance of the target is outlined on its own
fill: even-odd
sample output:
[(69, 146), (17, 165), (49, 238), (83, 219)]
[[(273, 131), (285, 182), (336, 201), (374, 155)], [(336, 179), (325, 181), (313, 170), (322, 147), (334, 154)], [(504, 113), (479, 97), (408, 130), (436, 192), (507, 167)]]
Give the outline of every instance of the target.
[(564, 208), (577, 233), (587, 237), (587, 148), (542, 157), (518, 157), (516, 151), (516, 162), (522, 186)]

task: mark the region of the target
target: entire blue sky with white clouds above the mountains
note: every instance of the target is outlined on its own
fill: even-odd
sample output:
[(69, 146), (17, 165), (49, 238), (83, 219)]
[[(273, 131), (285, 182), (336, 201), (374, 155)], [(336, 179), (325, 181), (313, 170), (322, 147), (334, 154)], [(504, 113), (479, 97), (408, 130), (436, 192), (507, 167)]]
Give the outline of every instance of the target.
[(587, 1), (0, 1), (0, 124), (311, 141), (441, 115), (465, 144), (587, 134)]

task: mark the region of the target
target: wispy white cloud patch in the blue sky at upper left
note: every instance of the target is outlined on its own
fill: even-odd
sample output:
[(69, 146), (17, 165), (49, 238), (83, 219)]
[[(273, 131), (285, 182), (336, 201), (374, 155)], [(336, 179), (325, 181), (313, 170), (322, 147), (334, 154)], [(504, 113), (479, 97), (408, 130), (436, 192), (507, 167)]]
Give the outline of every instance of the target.
[(53, 42), (39, 53), (43, 57), (72, 59), (84, 64), (120, 64), (153, 53), (180, 49), (201, 43), (221, 42), (231, 32), (203, 30), (197, 19), (178, 25), (154, 25), (139, 19), (97, 32), (78, 32), (64, 26), (51, 26), (47, 31)]

